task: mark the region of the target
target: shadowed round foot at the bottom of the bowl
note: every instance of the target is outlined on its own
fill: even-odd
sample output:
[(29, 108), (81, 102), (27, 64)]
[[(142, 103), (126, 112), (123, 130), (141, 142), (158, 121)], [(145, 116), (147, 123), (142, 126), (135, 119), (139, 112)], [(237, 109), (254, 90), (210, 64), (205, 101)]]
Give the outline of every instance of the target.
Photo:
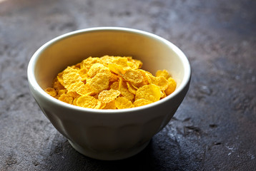
[(149, 141), (137, 147), (133, 147), (132, 149), (119, 150), (117, 152), (97, 152), (90, 149), (89, 147), (81, 147), (71, 140), (69, 140), (69, 143), (72, 145), (72, 147), (74, 147), (75, 150), (77, 150), (77, 152), (87, 157), (91, 157), (97, 160), (122, 160), (128, 157), (132, 157), (133, 155), (137, 155), (137, 153), (141, 152), (145, 147), (147, 147)]

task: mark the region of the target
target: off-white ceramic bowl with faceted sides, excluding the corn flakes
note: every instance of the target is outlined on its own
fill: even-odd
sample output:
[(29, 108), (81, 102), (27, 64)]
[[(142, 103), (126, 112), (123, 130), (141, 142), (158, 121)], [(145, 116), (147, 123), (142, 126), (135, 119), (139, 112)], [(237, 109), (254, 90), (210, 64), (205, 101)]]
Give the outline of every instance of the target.
[[(177, 88), (162, 100), (138, 108), (99, 110), (69, 105), (44, 92), (57, 73), (89, 56), (132, 56), (144, 70), (166, 69)], [(189, 88), (191, 71), (182, 51), (152, 33), (131, 28), (87, 28), (66, 33), (41, 46), (28, 66), (31, 94), (56, 130), (77, 151), (99, 160), (137, 154), (162, 130)]]

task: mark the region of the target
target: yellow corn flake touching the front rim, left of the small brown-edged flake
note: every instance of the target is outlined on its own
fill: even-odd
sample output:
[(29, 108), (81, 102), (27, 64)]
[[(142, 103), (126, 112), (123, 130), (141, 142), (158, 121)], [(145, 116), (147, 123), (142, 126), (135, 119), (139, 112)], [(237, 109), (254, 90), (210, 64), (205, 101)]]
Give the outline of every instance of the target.
[(99, 109), (101, 103), (91, 95), (82, 95), (77, 99), (77, 105), (84, 108)]

